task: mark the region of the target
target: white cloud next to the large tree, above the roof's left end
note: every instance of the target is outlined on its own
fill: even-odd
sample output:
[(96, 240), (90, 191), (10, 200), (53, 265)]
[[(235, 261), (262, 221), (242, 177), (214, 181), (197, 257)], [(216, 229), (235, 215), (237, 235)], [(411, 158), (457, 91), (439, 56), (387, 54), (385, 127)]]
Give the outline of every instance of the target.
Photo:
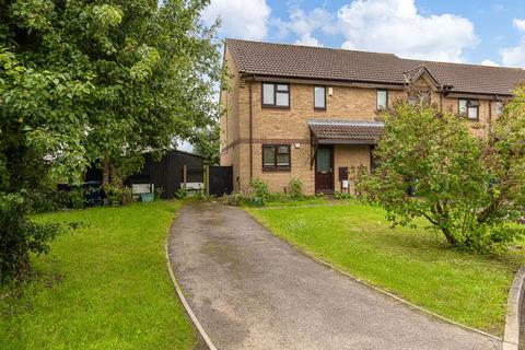
[(221, 35), (257, 40), (268, 34), (270, 12), (266, 0), (211, 0), (202, 12), (202, 21), (211, 25), (220, 18)]

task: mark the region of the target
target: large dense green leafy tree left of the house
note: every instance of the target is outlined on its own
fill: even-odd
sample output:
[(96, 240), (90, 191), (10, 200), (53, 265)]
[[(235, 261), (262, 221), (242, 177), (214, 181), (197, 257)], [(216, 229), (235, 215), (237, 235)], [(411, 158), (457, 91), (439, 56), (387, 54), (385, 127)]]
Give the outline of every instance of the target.
[(92, 163), (108, 183), (214, 124), (222, 72), (215, 27), (199, 22), (207, 3), (0, 0), (0, 279), (54, 236), (25, 224), (27, 194)]

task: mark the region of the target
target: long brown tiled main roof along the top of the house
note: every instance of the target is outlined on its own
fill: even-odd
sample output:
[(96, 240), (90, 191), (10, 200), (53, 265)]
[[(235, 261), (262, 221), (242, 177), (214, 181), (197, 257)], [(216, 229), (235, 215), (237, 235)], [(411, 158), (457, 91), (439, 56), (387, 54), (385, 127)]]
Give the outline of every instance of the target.
[(402, 59), (376, 54), (310, 46), (226, 39), (226, 46), (242, 73), (404, 84), (405, 73), (423, 66), (439, 84), (452, 92), (510, 95), (525, 82), (525, 70)]

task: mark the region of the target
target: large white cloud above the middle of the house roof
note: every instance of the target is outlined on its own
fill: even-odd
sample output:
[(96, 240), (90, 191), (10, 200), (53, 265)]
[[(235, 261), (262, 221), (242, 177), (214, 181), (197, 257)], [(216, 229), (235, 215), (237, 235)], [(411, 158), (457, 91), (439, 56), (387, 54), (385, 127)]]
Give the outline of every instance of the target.
[(337, 18), (337, 31), (346, 37), (342, 47), (348, 49), (463, 61), (463, 50), (478, 42), (469, 20), (448, 13), (422, 15), (415, 0), (354, 0)]

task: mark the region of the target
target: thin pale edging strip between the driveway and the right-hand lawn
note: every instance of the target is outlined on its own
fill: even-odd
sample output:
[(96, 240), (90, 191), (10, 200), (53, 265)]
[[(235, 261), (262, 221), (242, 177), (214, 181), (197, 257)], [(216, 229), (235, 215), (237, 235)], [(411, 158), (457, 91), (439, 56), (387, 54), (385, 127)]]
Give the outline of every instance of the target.
[[(301, 252), (302, 254), (306, 255), (306, 256), (310, 257), (311, 259), (317, 261), (318, 264), (324, 265), (324, 266), (326, 266), (326, 267), (328, 267), (328, 268), (330, 268), (330, 269), (332, 269), (332, 270), (335, 270), (335, 271), (337, 271), (337, 272), (339, 272), (339, 273), (341, 273), (341, 275), (345, 275), (346, 277), (352, 279), (353, 281), (355, 281), (355, 282), (358, 282), (358, 283), (360, 283), (360, 284), (362, 284), (362, 285), (364, 285), (364, 287), (366, 287), (366, 288), (370, 288), (370, 289), (372, 289), (372, 290), (374, 290), (374, 291), (376, 291), (376, 292), (380, 292), (381, 294), (384, 294), (384, 295), (386, 295), (386, 296), (388, 296), (388, 298), (395, 299), (396, 301), (398, 301), (398, 302), (400, 302), (400, 303), (402, 303), (402, 304), (405, 304), (405, 305), (407, 305), (407, 306), (409, 306), (409, 307), (411, 307), (411, 308), (415, 308), (415, 310), (417, 310), (417, 311), (419, 311), (419, 312), (421, 312), (421, 313), (423, 313), (423, 314), (427, 314), (427, 315), (429, 315), (429, 316), (432, 316), (432, 317), (434, 317), (434, 318), (438, 318), (438, 319), (440, 319), (440, 320), (442, 320), (442, 322), (445, 322), (445, 323), (447, 323), (447, 324), (457, 326), (457, 327), (463, 328), (463, 329), (465, 329), (465, 330), (469, 330), (469, 331), (472, 331), (472, 332), (477, 332), (477, 334), (479, 334), (479, 335), (482, 335), (482, 336), (486, 336), (486, 337), (489, 337), (489, 338), (499, 340), (499, 341), (503, 342), (503, 349), (502, 349), (502, 350), (517, 350), (517, 348), (516, 348), (516, 349), (514, 349), (514, 348), (509, 348), (509, 349), (508, 349), (508, 348), (504, 348), (505, 341), (504, 341), (502, 338), (498, 337), (498, 336), (491, 335), (490, 332), (487, 332), (487, 331), (483, 331), (483, 330), (481, 330), (481, 329), (474, 328), (474, 327), (470, 327), (470, 326), (460, 324), (460, 323), (455, 322), (455, 320), (453, 320), (453, 319), (451, 319), (451, 318), (447, 318), (447, 317), (445, 317), (445, 316), (442, 316), (442, 315), (440, 315), (440, 314), (436, 314), (436, 313), (434, 313), (434, 312), (432, 312), (432, 311), (430, 311), (430, 310), (428, 310), (428, 308), (424, 308), (424, 307), (422, 307), (422, 306), (416, 305), (416, 304), (409, 302), (409, 301), (406, 300), (406, 299), (402, 299), (402, 298), (400, 298), (400, 296), (397, 296), (397, 295), (394, 294), (394, 293), (390, 293), (390, 292), (388, 292), (388, 291), (386, 291), (386, 290), (384, 290), (384, 289), (381, 289), (381, 288), (378, 288), (378, 287), (375, 287), (375, 285), (373, 285), (373, 284), (371, 284), (371, 283), (369, 283), (369, 282), (366, 282), (366, 281), (364, 281), (364, 280), (362, 280), (362, 279), (360, 279), (360, 278), (358, 278), (358, 277), (354, 277), (354, 276), (348, 273), (347, 271), (338, 268), (337, 266), (335, 266), (335, 265), (332, 265), (332, 264), (330, 264), (330, 262), (328, 262), (328, 261), (326, 261), (326, 260), (324, 260), (324, 259), (315, 256), (313, 253), (310, 253), (308, 250), (306, 250), (306, 249), (304, 249), (304, 248), (302, 248), (302, 247), (300, 247), (300, 246), (296, 246), (296, 245), (292, 244), (292, 243), (289, 242), (288, 240), (284, 240), (284, 238), (281, 238), (281, 237), (279, 237), (279, 236), (277, 236), (276, 234), (273, 234), (273, 232), (271, 232), (271, 230), (269, 230), (262, 222), (260, 222), (260, 220), (259, 220), (258, 218), (254, 217), (249, 211), (244, 210), (244, 209), (241, 209), (241, 210), (243, 210), (245, 213), (247, 213), (252, 219), (254, 219), (255, 222), (257, 222), (257, 223), (258, 223), (259, 225), (261, 225), (265, 230), (267, 230), (272, 236), (275, 236), (275, 237), (277, 237), (277, 238), (279, 238), (279, 240), (283, 241), (283, 242), (287, 242), (287, 243), (290, 244), (292, 247), (294, 247), (295, 249), (298, 249), (298, 250)], [(525, 272), (525, 270), (524, 270), (524, 272)], [(524, 273), (524, 276), (525, 276), (525, 273)], [(505, 334), (506, 334), (506, 322), (505, 322)]]

